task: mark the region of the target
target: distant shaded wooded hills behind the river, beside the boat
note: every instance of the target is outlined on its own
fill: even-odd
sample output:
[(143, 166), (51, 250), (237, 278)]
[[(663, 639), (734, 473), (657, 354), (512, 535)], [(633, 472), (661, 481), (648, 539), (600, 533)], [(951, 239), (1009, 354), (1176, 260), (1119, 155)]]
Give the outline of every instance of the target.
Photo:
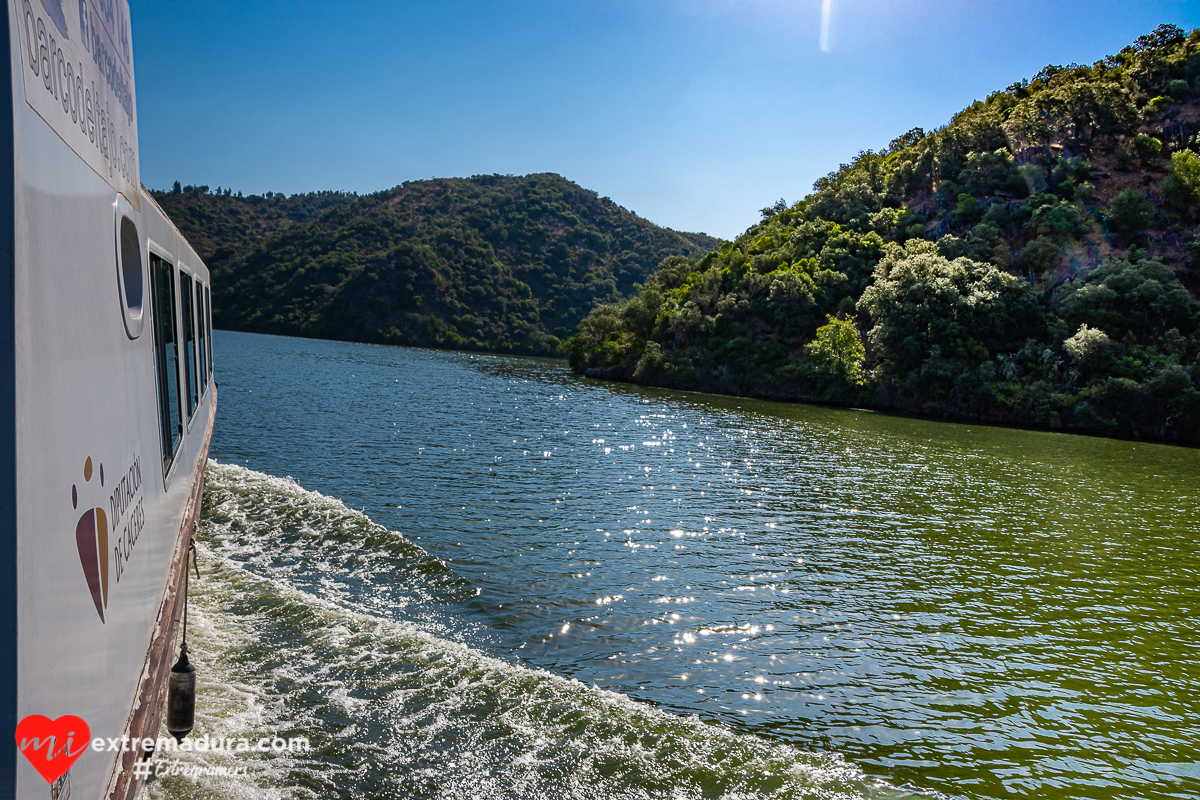
[(719, 243), (553, 174), (155, 197), (212, 270), (217, 327), (359, 342), (554, 355), (664, 258)]

